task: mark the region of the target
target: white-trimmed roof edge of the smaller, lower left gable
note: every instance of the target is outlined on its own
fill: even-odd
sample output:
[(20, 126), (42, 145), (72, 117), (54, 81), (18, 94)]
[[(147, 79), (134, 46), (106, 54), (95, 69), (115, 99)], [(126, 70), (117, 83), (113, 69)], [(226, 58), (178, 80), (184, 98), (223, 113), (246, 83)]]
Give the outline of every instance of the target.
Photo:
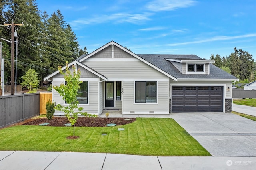
[[(94, 69), (88, 67), (87, 65), (85, 65), (85, 64), (83, 64), (83, 63), (80, 63), (80, 62), (77, 61), (77, 60), (75, 60), (75, 61), (69, 63), (69, 64), (68, 64), (68, 67), (70, 67), (70, 66), (72, 66), (72, 65), (74, 65), (74, 64), (78, 64), (78, 65), (80, 65), (81, 67), (83, 67), (84, 69), (86, 69), (86, 70), (90, 71), (91, 73), (97, 75), (98, 77), (100, 77), (100, 78), (102, 78), (102, 79), (104, 79), (104, 80), (107, 80), (107, 77), (105, 77), (104, 75), (98, 73), (97, 71), (95, 71)], [(62, 70), (66, 69), (66, 67), (67, 67), (66, 65), (65, 65), (64, 67), (62, 67)], [(60, 73), (59, 70), (57, 70), (57, 71), (55, 71), (54, 73), (52, 73), (52, 74), (50, 74), (50, 75), (44, 77), (44, 81), (47, 80), (47, 79), (50, 79), (51, 77), (53, 77), (54, 75), (56, 75), (56, 74), (58, 74), (58, 73)]]

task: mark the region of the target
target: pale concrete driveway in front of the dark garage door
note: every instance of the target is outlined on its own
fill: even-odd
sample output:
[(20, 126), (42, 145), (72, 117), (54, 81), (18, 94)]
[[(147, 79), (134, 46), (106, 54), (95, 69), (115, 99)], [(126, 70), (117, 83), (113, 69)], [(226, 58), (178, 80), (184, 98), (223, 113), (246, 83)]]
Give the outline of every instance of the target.
[(233, 113), (171, 113), (212, 156), (256, 156), (256, 121)]

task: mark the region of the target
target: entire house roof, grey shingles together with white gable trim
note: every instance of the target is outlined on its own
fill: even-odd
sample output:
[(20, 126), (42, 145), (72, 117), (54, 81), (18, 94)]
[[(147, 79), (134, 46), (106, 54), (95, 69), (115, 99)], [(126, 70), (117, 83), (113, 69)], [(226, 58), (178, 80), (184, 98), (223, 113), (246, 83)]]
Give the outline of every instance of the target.
[[(197, 55), (135, 54), (132, 51), (126, 49), (125, 47), (123, 47), (122, 45), (119, 45), (118, 43), (116, 43), (114, 41), (111, 41), (111, 42), (103, 45), (102, 47), (96, 49), (95, 51), (93, 51), (90, 54), (81, 55), (78, 59), (76, 59), (72, 63), (68, 64), (69, 65), (68, 67), (70, 67), (70, 65), (72, 65), (74, 63), (77, 63), (78, 65), (80, 65), (84, 69), (94, 73), (98, 77), (100, 77), (104, 80), (107, 80), (107, 77), (98, 73), (97, 71), (88, 67), (87, 65), (84, 65), (82, 63), (82, 61), (88, 59), (89, 57), (93, 56), (94, 54), (98, 53), (99, 51), (102, 51), (103, 49), (105, 49), (106, 47), (109, 47), (110, 45), (115, 45), (115, 46), (119, 47), (120, 49), (129, 53), (133, 57), (139, 59), (140, 61), (146, 63), (150, 67), (152, 67), (152, 68), (160, 71), (164, 75), (170, 77), (174, 81), (178, 81), (178, 80), (210, 80), (210, 79), (239, 81), (239, 79), (237, 79), (235, 76), (227, 73), (226, 71), (223, 71), (222, 69), (220, 69), (212, 64), (209, 64), (210, 65), (210, 74), (190, 74), (190, 75), (188, 75), (188, 74), (180, 73), (180, 71), (178, 71), (178, 69), (171, 63), (171, 61), (175, 61), (175, 60), (180, 61), (180, 62), (182, 62), (182, 60), (183, 61), (200, 61), (200, 62), (205, 61), (205, 63), (212, 62), (212, 60), (205, 60), (205, 59), (198, 57)], [(114, 57), (113, 55), (114, 55), (114, 53), (112, 51), (112, 57)], [(65, 69), (65, 68), (66, 68), (66, 66), (63, 67), (62, 69)], [(44, 78), (44, 80), (49, 79), (50, 77), (56, 75), (57, 73), (59, 73), (59, 71), (55, 71), (54, 73), (48, 75), (47, 77)]]

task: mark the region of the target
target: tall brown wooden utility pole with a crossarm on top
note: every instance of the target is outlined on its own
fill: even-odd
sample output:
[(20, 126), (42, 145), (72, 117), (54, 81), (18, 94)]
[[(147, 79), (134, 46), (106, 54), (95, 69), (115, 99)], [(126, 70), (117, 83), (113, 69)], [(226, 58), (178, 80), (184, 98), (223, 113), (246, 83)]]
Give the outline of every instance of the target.
[(14, 24), (12, 20), (12, 24), (4, 24), (4, 26), (12, 27), (12, 37), (11, 37), (11, 95), (14, 95), (14, 27), (15, 26), (23, 26), (22, 24)]

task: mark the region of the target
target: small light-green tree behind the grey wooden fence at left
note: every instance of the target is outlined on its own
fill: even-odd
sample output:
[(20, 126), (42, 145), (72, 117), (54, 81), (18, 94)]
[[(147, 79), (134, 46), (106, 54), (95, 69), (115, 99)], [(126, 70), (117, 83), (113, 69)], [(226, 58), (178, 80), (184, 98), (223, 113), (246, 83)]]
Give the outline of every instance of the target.
[(29, 89), (29, 93), (33, 93), (33, 89), (37, 89), (39, 85), (38, 80), (38, 73), (36, 73), (36, 70), (29, 69), (26, 71), (26, 74), (22, 76), (23, 82), (21, 83), (22, 86), (26, 86)]

